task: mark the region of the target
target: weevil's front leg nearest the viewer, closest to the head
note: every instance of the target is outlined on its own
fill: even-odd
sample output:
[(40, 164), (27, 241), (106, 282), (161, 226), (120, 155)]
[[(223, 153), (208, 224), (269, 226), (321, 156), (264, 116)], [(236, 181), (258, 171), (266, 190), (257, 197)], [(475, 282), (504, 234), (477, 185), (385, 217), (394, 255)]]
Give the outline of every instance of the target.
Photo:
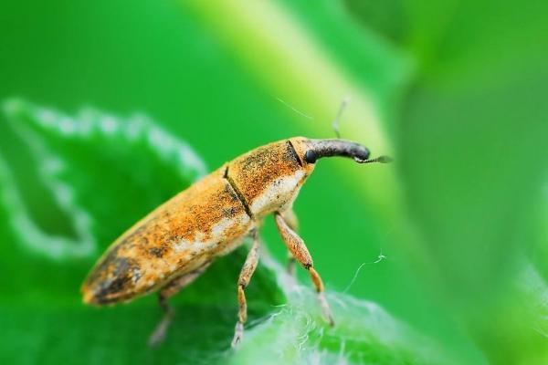
[(312, 283), (314, 284), (314, 287), (316, 287), (316, 292), (318, 293), (318, 300), (320, 301), (323, 317), (325, 317), (328, 323), (333, 326), (334, 321), (332, 318), (332, 312), (327, 304), (327, 300), (325, 300), (325, 296), (323, 295), (323, 282), (321, 281), (320, 274), (318, 274), (313, 267), (314, 264), (308, 248), (304, 245), (302, 238), (300, 238), (300, 236), (290, 228), (284, 217), (279, 213), (276, 213), (276, 224), (278, 225), (279, 234), (281, 235), (283, 242), (288, 246), (291, 254), (297, 259), (297, 261), (299, 261), (301, 266), (308, 270), (311, 275)]

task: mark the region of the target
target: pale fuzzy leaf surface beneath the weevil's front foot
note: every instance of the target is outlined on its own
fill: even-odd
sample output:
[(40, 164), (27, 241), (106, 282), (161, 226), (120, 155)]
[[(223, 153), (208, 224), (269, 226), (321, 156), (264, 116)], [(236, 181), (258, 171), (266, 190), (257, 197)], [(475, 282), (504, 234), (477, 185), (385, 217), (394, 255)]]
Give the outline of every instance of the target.
[(231, 363), (447, 363), (433, 340), (416, 334), (373, 302), (328, 292), (336, 322), (329, 327), (310, 287), (298, 284), (268, 255), (262, 262), (276, 273), (288, 303), (268, 318), (249, 324), (236, 353), (227, 356)]

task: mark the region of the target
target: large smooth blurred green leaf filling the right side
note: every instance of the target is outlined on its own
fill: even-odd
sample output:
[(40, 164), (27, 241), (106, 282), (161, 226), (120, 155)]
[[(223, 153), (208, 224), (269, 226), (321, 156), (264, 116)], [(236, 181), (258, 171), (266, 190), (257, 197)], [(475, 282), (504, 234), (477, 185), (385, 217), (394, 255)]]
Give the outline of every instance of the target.
[(420, 68), (401, 112), (402, 177), (439, 267), (436, 290), (490, 360), (544, 363), (541, 335), (515, 305), (531, 299), (512, 287), (522, 255), (543, 252), (530, 230), (548, 166), (548, 6), (408, 9), (406, 47)]

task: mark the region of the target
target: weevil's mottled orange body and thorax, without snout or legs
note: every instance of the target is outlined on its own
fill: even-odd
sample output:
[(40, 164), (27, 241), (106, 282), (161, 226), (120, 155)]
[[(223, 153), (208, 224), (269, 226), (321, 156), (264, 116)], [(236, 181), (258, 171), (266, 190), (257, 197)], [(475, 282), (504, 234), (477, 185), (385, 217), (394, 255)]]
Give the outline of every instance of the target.
[(292, 138), (225, 163), (133, 225), (92, 269), (82, 293), (96, 305), (161, 289), (241, 245), (274, 212), (290, 209), (315, 164)]

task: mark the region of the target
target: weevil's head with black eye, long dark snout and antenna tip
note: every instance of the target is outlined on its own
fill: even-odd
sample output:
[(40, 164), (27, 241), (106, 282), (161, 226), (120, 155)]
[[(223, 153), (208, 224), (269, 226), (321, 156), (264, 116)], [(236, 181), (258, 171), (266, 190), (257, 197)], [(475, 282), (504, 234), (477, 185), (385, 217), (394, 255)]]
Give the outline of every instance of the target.
[(292, 138), (290, 141), (295, 147), (300, 161), (306, 165), (313, 165), (323, 157), (334, 156), (351, 158), (354, 162), (358, 163), (385, 163), (391, 161), (387, 156), (380, 156), (369, 160), (369, 150), (360, 143), (353, 141), (339, 139), (310, 140), (302, 137)]

